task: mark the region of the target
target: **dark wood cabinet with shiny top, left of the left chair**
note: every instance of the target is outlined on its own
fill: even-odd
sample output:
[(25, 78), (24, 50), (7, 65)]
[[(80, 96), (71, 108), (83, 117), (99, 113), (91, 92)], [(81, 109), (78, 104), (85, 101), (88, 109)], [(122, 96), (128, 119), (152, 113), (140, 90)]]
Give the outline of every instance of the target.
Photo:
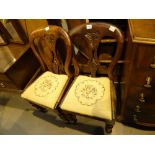
[(29, 45), (0, 46), (0, 90), (22, 90), (39, 70), (40, 64)]

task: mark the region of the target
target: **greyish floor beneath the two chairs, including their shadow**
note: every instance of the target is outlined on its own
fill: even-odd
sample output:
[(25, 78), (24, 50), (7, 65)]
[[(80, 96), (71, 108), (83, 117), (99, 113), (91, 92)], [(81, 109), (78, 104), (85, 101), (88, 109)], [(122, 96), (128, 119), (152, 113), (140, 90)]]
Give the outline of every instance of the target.
[[(77, 125), (64, 124), (53, 112), (36, 111), (19, 94), (0, 92), (1, 135), (101, 135), (104, 123), (78, 117)], [(116, 122), (112, 135), (154, 135)]]

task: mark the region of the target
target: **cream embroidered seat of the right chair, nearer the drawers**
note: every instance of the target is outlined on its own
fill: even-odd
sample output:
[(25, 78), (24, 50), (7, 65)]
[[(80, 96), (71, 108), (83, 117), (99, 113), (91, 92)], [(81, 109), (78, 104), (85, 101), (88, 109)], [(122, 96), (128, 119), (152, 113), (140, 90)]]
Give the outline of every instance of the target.
[(112, 120), (110, 79), (78, 76), (60, 107), (66, 111)]

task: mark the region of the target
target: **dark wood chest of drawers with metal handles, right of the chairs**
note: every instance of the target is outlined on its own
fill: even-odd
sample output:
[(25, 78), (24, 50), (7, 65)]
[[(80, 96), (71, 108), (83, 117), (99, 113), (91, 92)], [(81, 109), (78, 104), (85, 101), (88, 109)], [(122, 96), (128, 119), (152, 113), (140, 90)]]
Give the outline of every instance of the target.
[(128, 20), (121, 119), (155, 127), (155, 20)]

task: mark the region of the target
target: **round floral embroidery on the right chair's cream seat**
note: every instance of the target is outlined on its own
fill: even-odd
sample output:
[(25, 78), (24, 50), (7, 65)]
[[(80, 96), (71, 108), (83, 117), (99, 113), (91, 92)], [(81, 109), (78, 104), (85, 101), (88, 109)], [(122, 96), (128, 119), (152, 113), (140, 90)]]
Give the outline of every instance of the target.
[(105, 88), (97, 80), (84, 80), (76, 85), (75, 96), (79, 103), (87, 106), (96, 104), (104, 96)]

